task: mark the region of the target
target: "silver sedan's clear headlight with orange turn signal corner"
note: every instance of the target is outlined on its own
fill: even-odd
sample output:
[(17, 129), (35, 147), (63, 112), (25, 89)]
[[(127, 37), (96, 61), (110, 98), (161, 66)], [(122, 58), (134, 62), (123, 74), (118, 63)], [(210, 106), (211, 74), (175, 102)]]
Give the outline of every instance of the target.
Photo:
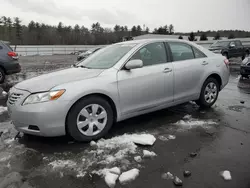
[(23, 102), (23, 105), (53, 101), (53, 100), (60, 98), (64, 92), (65, 90), (63, 89), (63, 90), (57, 90), (57, 91), (49, 91), (49, 92), (31, 94), (25, 99), (25, 101)]

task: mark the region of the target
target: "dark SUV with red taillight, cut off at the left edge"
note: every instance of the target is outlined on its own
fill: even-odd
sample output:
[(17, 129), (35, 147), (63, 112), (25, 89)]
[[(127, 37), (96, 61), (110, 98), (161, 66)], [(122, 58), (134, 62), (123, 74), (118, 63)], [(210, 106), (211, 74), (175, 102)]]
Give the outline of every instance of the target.
[(8, 43), (0, 41), (0, 83), (4, 82), (6, 75), (20, 71), (18, 54), (12, 50)]

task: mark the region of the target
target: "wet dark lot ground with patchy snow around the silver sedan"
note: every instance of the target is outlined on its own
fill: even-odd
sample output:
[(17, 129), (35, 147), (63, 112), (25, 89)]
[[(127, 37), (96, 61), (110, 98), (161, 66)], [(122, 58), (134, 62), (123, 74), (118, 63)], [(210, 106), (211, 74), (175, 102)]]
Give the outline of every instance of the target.
[[(9, 77), (8, 82), (70, 67), (75, 58), (21, 57), (22, 72)], [(0, 188), (10, 184), (36, 188), (105, 188), (105, 174), (113, 167), (121, 172), (139, 170), (134, 181), (123, 184), (117, 180), (115, 187), (175, 187), (172, 179), (165, 178), (164, 174), (170, 172), (182, 180), (183, 187), (248, 188), (250, 97), (238, 90), (237, 77), (230, 77), (211, 109), (199, 109), (190, 102), (132, 118), (117, 123), (107, 137), (92, 143), (76, 143), (67, 137), (22, 135), (14, 140), (17, 132), (6, 109), (1, 107)], [(1, 106), (5, 106), (5, 100)], [(147, 146), (138, 144), (140, 135), (146, 139)], [(149, 152), (156, 156), (153, 153), (144, 156)], [(183, 176), (185, 170), (191, 172), (190, 177)], [(231, 181), (221, 177), (225, 170), (231, 172)]]

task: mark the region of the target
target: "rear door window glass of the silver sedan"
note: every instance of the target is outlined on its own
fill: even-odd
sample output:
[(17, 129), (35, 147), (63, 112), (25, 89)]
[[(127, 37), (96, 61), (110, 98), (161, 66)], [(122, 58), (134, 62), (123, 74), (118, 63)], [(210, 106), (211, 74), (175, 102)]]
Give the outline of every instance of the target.
[(173, 61), (184, 61), (195, 58), (190, 45), (181, 42), (169, 42), (168, 44), (172, 51)]

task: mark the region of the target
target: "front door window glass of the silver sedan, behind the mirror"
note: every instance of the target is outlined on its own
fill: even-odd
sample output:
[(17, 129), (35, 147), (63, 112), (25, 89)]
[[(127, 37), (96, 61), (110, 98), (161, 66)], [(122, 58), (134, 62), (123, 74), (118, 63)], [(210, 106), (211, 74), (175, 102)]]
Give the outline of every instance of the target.
[(167, 62), (165, 46), (162, 42), (148, 44), (138, 50), (131, 59), (140, 59), (143, 66), (156, 65)]

